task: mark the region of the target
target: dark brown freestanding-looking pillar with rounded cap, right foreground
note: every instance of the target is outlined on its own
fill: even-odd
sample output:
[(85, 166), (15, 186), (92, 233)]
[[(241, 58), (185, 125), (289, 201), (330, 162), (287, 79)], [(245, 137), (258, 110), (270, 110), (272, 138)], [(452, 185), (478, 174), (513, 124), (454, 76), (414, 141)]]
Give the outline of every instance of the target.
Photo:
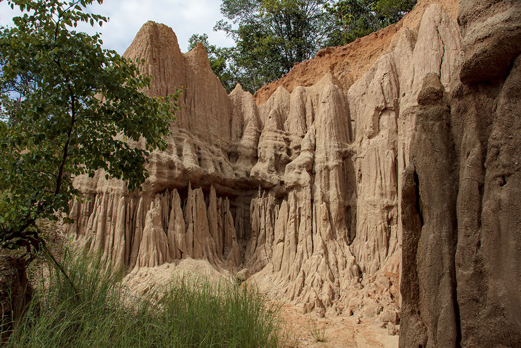
[[(453, 347), (461, 340), (454, 262), (457, 185), (449, 128), (450, 111), (439, 75), (429, 74), (424, 78), (418, 105), (411, 143), (414, 169), (406, 171), (407, 185), (404, 184), (402, 194), (402, 207), (407, 209), (402, 212), (404, 236), (407, 236), (404, 239), (402, 282), (407, 281), (403, 290), (412, 292), (406, 292), (402, 299), (404, 310), (410, 313), (406, 313), (409, 317), (400, 344)], [(411, 175), (417, 191), (414, 196)], [(415, 215), (415, 209), (418, 215)], [(420, 232), (415, 216), (421, 223)], [(414, 250), (416, 240), (417, 248)], [(417, 285), (412, 283), (415, 278)], [(414, 314), (415, 306), (418, 315)]]

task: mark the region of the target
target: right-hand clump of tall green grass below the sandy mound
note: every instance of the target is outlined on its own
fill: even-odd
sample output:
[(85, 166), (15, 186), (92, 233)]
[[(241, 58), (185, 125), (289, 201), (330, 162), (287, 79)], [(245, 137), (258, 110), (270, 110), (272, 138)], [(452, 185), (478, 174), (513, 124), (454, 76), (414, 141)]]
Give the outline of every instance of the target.
[(277, 308), (252, 288), (178, 278), (159, 305), (165, 328), (178, 332), (183, 346), (277, 346)]

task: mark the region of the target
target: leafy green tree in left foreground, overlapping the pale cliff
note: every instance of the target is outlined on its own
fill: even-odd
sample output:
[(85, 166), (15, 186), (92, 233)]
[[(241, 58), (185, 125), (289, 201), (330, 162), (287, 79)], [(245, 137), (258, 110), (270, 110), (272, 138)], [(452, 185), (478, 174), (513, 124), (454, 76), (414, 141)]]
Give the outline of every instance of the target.
[(166, 148), (180, 91), (147, 97), (150, 77), (102, 49), (99, 34), (75, 30), (107, 21), (85, 12), (93, 2), (8, 1), (22, 15), (13, 28), (0, 28), (3, 248), (24, 247), (32, 256), (44, 246), (38, 220), (56, 220), (71, 199), (82, 199), (74, 177), (102, 169), (134, 190), (147, 177), (147, 155)]

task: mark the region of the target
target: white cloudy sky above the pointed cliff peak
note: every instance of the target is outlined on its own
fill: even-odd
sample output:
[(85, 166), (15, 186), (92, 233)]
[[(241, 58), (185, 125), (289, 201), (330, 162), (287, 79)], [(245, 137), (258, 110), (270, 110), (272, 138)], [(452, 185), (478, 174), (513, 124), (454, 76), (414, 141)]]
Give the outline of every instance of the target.
[[(103, 5), (92, 5), (90, 11), (109, 17), (103, 27), (82, 27), (89, 33), (101, 32), (103, 46), (122, 54), (147, 20), (164, 23), (177, 35), (182, 52), (188, 48), (193, 33), (207, 33), (211, 44), (232, 46), (233, 40), (223, 32), (213, 31), (215, 22), (222, 18), (220, 0), (105, 0)], [(7, 1), (0, 2), (0, 24), (12, 25), (11, 18), (19, 14), (11, 10)]]

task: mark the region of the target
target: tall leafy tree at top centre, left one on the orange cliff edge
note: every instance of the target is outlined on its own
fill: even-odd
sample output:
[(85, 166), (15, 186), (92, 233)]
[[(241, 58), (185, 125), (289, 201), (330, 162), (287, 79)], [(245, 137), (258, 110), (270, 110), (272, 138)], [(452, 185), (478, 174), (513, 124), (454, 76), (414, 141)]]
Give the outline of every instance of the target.
[[(255, 92), (311, 58), (330, 31), (325, 0), (223, 0), (217, 22), (234, 39), (237, 82)], [(237, 26), (234, 28), (234, 26)]]

